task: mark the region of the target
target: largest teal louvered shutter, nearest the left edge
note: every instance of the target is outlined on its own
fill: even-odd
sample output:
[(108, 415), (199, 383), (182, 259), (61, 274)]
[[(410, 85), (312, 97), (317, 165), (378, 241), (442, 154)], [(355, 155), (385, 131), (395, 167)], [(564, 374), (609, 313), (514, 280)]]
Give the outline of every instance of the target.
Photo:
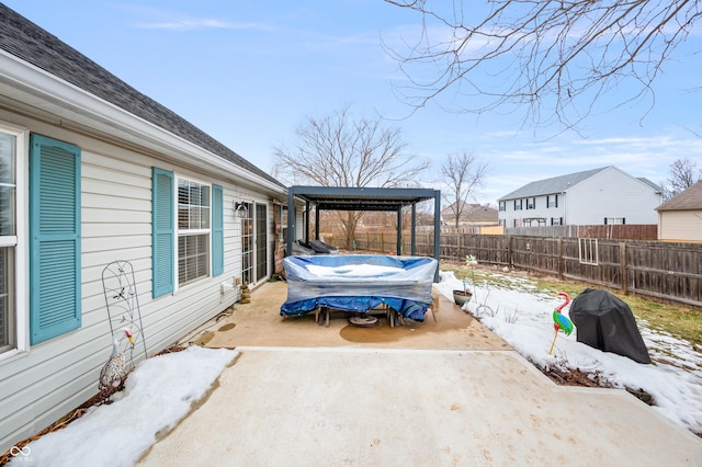
[(81, 323), (80, 148), (30, 139), (30, 342)]

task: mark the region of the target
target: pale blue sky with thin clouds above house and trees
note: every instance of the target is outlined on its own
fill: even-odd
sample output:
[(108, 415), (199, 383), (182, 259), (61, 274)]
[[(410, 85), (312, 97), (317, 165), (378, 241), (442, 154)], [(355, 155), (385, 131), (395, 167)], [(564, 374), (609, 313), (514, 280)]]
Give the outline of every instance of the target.
[(692, 133), (702, 135), (699, 27), (656, 81), (655, 103), (609, 110), (619, 90), (579, 133), (554, 136), (556, 128), (524, 125), (519, 109), (476, 116), (430, 104), (411, 113), (394, 92), (405, 77), (381, 41), (416, 38), (420, 18), (382, 0), (4, 3), (267, 171), (296, 125), (344, 105), (403, 129), (408, 151), (432, 161), (424, 186), (442, 189), (448, 155), (487, 160), (482, 203), (604, 166), (656, 183), (676, 159), (702, 168), (702, 138)]

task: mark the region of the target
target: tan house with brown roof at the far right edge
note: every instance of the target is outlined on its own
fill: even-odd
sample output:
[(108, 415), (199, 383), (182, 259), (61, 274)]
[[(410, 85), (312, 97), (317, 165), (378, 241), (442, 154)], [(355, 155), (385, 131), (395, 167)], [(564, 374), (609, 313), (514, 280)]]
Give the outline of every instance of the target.
[(702, 242), (702, 180), (656, 208), (658, 240)]

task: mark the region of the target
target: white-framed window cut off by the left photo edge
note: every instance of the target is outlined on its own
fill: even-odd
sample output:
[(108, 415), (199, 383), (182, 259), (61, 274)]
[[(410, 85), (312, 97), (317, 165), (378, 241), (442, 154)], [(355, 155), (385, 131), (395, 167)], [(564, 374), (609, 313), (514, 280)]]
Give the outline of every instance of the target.
[(0, 357), (27, 346), (23, 258), (29, 133), (0, 122)]

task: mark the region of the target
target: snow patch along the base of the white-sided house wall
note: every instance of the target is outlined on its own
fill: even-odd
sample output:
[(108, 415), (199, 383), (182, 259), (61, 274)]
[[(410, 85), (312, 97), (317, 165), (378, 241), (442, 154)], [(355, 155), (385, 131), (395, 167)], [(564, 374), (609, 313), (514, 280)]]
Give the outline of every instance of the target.
[[(90, 409), (14, 456), (12, 466), (133, 466), (211, 390), (238, 352), (191, 346), (141, 362), (114, 402)], [(95, 387), (98, 381), (95, 381)]]

